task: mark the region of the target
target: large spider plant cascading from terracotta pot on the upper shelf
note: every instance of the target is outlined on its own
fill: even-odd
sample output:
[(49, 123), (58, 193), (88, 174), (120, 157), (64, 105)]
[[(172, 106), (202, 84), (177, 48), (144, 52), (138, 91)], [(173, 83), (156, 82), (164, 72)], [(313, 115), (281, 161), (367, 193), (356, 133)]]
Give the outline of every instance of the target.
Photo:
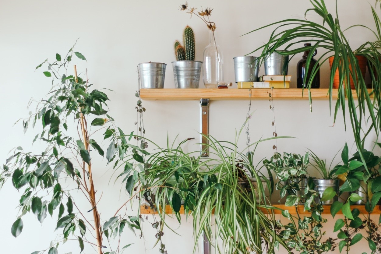
[[(376, 1), (378, 2), (379, 0)], [(295, 55), (306, 50), (310, 50), (310, 54), (307, 56), (306, 61), (306, 68), (308, 69), (311, 64), (312, 54), (317, 48), (323, 48), (320, 52), (325, 53), (323, 53), (318, 59), (320, 65), (314, 65), (310, 79), (308, 81), (304, 80), (303, 84), (304, 86), (307, 85), (308, 88), (310, 107), (312, 104), (312, 80), (314, 80), (315, 75), (320, 67), (323, 66), (323, 63), (326, 62), (329, 57), (334, 56), (334, 61), (330, 72), (330, 84), (328, 88), (330, 112), (333, 106), (331, 102), (333, 94), (338, 93), (338, 99), (334, 104), (334, 123), (336, 121), (336, 117), (338, 116), (339, 109), (341, 108), (341, 112), (343, 112), (345, 129), (347, 128), (345, 123), (345, 108), (347, 107), (349, 109), (349, 120), (354, 133), (355, 144), (358, 150), (361, 151), (365, 137), (372, 131), (372, 129), (378, 136), (381, 126), (381, 116), (378, 110), (380, 105), (379, 84), (381, 77), (381, 64), (379, 62), (381, 54), (378, 52), (378, 50), (381, 49), (380, 19), (378, 18), (375, 9), (372, 8), (371, 10), (377, 29), (377, 33), (375, 32), (375, 41), (365, 42), (358, 49), (354, 50), (344, 35), (344, 32), (347, 29), (343, 29), (340, 26), (337, 1), (334, 15), (328, 12), (324, 0), (310, 0), (310, 2), (312, 4), (312, 8), (308, 9), (306, 14), (312, 12), (319, 15), (322, 18), (321, 24), (307, 20), (286, 19), (255, 29), (251, 32), (275, 26), (269, 41), (253, 52), (262, 50), (262, 53), (258, 59), (259, 64), (262, 64), (266, 56), (274, 51), (277, 51), (279, 54)], [(362, 27), (369, 29), (365, 26)], [(303, 45), (304, 42), (311, 42), (312, 45), (307, 48), (299, 47), (296, 49), (291, 49), (295, 48), (295, 46), (297, 47), (298, 45)], [(286, 51), (280, 51), (284, 49)], [(371, 73), (373, 81), (373, 90), (371, 93), (373, 93), (373, 97), (371, 97), (371, 93), (368, 93), (367, 91), (367, 85), (365, 84), (364, 78), (361, 74), (356, 55), (365, 56), (368, 63), (370, 63), (373, 67), (374, 74)], [(339, 72), (339, 88), (337, 90), (333, 89), (333, 79), (336, 69), (338, 69)], [(355, 87), (353, 91), (351, 91), (350, 86), (351, 78), (353, 79)], [(368, 126), (364, 124), (365, 121), (363, 120), (366, 114), (368, 114), (369, 117), (369, 121), (367, 121)], [(361, 153), (360, 157), (362, 162), (365, 164), (365, 159)]]

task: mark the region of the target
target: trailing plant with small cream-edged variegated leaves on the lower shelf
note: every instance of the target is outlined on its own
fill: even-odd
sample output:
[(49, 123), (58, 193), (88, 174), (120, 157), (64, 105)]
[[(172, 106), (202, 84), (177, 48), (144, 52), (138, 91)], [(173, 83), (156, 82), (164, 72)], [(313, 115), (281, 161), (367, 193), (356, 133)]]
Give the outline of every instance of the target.
[[(274, 171), (279, 179), (276, 187), (283, 198), (288, 194), (286, 206), (304, 204), (304, 210), (309, 216), (300, 216), (298, 208), (296, 215), (291, 215), (288, 209), (282, 210), (282, 215), (290, 222), (283, 225), (277, 222), (277, 232), (289, 249), (295, 249), (301, 254), (325, 253), (334, 246), (332, 238), (324, 238), (322, 218), (323, 206), (316, 202), (319, 194), (315, 191), (312, 177), (307, 175), (309, 153), (301, 156), (296, 153), (275, 153), (270, 160), (264, 160), (267, 169)], [(324, 197), (322, 197), (323, 199)]]

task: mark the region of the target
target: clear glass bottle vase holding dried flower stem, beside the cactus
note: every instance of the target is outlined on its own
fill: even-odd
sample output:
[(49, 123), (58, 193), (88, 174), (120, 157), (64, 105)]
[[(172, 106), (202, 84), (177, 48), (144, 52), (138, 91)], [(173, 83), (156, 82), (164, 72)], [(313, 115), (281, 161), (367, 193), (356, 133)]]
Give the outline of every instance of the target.
[(209, 30), (209, 45), (203, 54), (203, 81), (206, 88), (217, 88), (224, 84), (224, 58), (221, 48), (216, 44), (216, 31)]

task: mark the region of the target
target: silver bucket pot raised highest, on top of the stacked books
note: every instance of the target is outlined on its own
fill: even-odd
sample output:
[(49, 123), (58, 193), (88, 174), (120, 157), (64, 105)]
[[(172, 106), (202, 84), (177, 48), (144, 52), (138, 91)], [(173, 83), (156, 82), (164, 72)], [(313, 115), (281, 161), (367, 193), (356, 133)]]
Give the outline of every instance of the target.
[[(285, 52), (285, 50), (278, 51)], [(281, 55), (274, 51), (264, 59), (264, 73), (266, 75), (287, 75), (287, 72), (288, 56)]]

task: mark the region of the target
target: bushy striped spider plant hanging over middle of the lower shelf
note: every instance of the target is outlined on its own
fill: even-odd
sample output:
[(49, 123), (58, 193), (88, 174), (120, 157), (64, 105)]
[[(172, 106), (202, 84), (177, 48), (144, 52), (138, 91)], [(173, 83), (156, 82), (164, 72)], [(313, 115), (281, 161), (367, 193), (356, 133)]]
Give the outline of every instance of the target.
[[(237, 133), (235, 143), (205, 136), (213, 159), (208, 162), (208, 170), (201, 172), (204, 189), (193, 212), (195, 240), (205, 233), (216, 253), (275, 253), (279, 244), (286, 246), (286, 242), (275, 232), (275, 208), (264, 195), (258, 165), (253, 166), (254, 151), (237, 150), (241, 131)], [(266, 140), (253, 143), (248, 149)], [(248, 181), (250, 177), (256, 179), (256, 185)], [(246, 187), (239, 184), (242, 179), (246, 179)], [(271, 186), (271, 183), (267, 185)], [(258, 197), (255, 192), (259, 193)], [(267, 212), (260, 208), (267, 208)], [(219, 240), (222, 245), (218, 244)]]

